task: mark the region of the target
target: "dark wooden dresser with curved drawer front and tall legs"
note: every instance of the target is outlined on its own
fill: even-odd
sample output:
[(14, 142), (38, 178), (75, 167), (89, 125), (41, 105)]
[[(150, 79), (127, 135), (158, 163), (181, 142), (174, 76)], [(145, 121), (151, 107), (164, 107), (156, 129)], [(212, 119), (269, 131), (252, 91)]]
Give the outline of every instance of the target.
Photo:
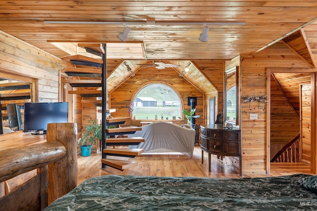
[(208, 153), (209, 171), (211, 171), (211, 154), (239, 157), (240, 176), (242, 176), (241, 135), (240, 129), (227, 129), (222, 124), (200, 126), (202, 163), (204, 151)]

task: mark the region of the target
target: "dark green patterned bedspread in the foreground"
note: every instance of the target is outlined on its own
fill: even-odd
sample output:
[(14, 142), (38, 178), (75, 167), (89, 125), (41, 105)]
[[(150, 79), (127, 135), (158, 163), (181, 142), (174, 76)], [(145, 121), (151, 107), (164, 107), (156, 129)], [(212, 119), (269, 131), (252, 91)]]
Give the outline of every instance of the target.
[(99, 176), (86, 180), (45, 211), (316, 211), (317, 195), (298, 184), (307, 176)]

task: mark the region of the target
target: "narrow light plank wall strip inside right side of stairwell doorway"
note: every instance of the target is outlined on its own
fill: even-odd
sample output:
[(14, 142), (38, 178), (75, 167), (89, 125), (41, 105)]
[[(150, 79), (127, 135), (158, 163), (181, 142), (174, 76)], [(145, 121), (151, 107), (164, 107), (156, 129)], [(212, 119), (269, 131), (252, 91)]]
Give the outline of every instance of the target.
[(302, 118), (302, 161), (311, 163), (311, 100), (312, 86), (306, 84), (301, 86), (301, 118)]

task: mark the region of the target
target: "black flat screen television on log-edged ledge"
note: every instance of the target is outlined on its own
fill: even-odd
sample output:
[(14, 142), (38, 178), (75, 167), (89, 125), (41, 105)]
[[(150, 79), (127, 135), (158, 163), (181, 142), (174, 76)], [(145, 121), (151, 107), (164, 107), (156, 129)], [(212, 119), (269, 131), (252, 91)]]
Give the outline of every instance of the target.
[(46, 134), (49, 123), (68, 123), (68, 102), (24, 104), (24, 132)]

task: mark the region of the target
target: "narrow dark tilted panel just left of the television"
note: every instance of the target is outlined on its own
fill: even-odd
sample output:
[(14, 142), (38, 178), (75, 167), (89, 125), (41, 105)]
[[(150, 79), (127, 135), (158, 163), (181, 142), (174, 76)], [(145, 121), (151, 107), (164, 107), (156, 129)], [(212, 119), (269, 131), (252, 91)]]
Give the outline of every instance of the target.
[(19, 106), (16, 103), (6, 105), (9, 127), (11, 130), (22, 130), (22, 117)]

